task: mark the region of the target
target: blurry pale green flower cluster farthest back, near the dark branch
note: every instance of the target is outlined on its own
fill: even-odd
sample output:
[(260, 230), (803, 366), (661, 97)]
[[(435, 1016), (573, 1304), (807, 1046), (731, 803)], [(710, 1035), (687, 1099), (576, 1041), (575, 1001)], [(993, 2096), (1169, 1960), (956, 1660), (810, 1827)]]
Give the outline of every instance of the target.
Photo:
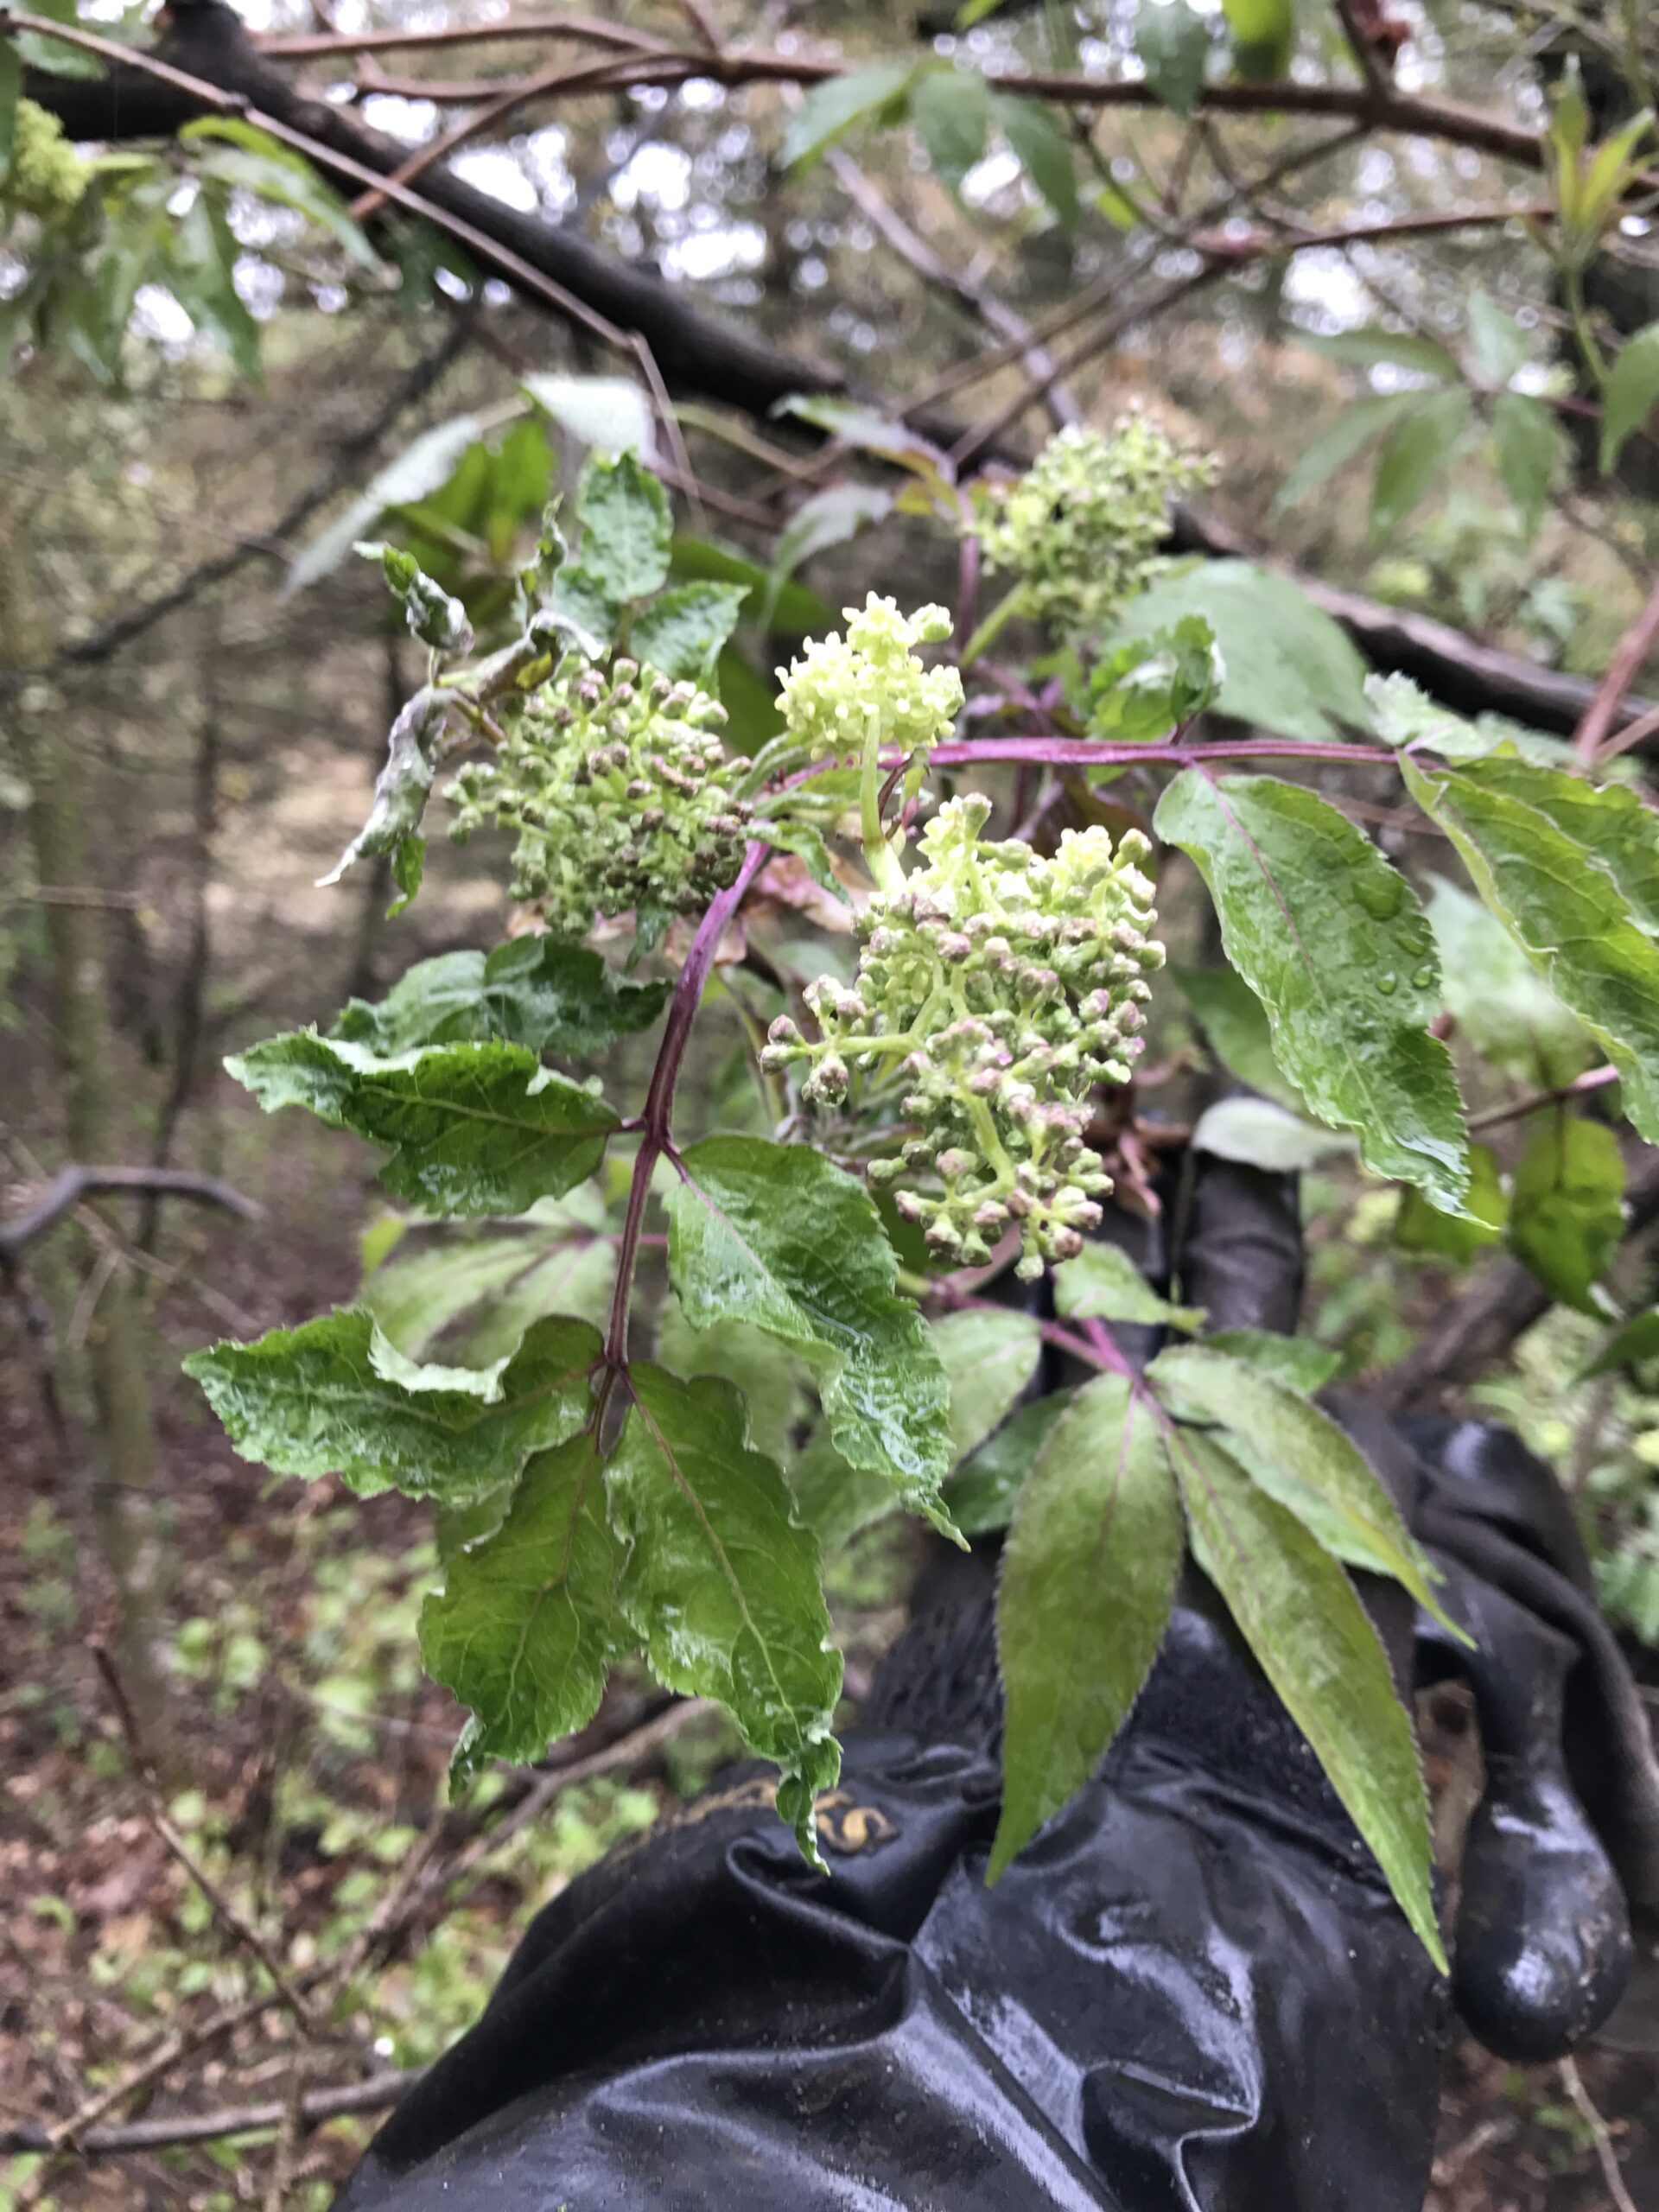
[(1144, 414), (1110, 436), (1068, 427), (1018, 482), (982, 487), (980, 551), (1022, 580), (1024, 613), (1062, 637), (1097, 633), (1157, 575), (1175, 493), (1212, 473)]

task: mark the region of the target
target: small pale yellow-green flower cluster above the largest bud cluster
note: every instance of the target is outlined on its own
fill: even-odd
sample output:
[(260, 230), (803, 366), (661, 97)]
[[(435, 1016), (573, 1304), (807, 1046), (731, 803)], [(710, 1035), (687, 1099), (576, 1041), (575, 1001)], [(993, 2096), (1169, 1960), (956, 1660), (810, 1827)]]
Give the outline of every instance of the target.
[(925, 668), (914, 648), (951, 635), (942, 606), (900, 615), (872, 591), (863, 611), (843, 608), (847, 635), (807, 639), (805, 657), (779, 668), (779, 708), (794, 737), (816, 752), (860, 750), (878, 717), (880, 745), (927, 752), (951, 734), (962, 706), (956, 668)]

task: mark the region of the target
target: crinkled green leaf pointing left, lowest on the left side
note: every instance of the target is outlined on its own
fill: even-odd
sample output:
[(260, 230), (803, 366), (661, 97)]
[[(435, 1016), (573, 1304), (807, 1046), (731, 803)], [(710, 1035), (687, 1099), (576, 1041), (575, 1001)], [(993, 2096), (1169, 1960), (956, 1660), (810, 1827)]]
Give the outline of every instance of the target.
[(599, 1352), (597, 1329), (553, 1318), (498, 1367), (420, 1367), (369, 1312), (341, 1307), (250, 1345), (208, 1345), (184, 1371), (243, 1460), (279, 1475), (338, 1473), (363, 1498), (465, 1500), (582, 1427)]

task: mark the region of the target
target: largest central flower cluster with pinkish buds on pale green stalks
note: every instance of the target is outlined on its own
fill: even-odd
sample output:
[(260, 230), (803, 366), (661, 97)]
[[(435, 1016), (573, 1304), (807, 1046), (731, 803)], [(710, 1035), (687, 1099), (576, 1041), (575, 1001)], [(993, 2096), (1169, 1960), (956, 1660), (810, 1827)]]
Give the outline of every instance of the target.
[(984, 1263), (1018, 1223), (1031, 1281), (1099, 1221), (1110, 1177), (1084, 1141), (1091, 1093), (1128, 1082), (1164, 947), (1139, 832), (1113, 849), (1106, 830), (1068, 830), (1044, 860), (1018, 841), (984, 843), (989, 812), (982, 796), (940, 807), (925, 865), (860, 920), (852, 989), (827, 975), (810, 987), (821, 1035), (807, 1042), (783, 1018), (763, 1064), (810, 1062), (803, 1095), (832, 1106), (854, 1071), (896, 1064), (916, 1133), (872, 1177), (911, 1179), (898, 1210), (951, 1263)]

